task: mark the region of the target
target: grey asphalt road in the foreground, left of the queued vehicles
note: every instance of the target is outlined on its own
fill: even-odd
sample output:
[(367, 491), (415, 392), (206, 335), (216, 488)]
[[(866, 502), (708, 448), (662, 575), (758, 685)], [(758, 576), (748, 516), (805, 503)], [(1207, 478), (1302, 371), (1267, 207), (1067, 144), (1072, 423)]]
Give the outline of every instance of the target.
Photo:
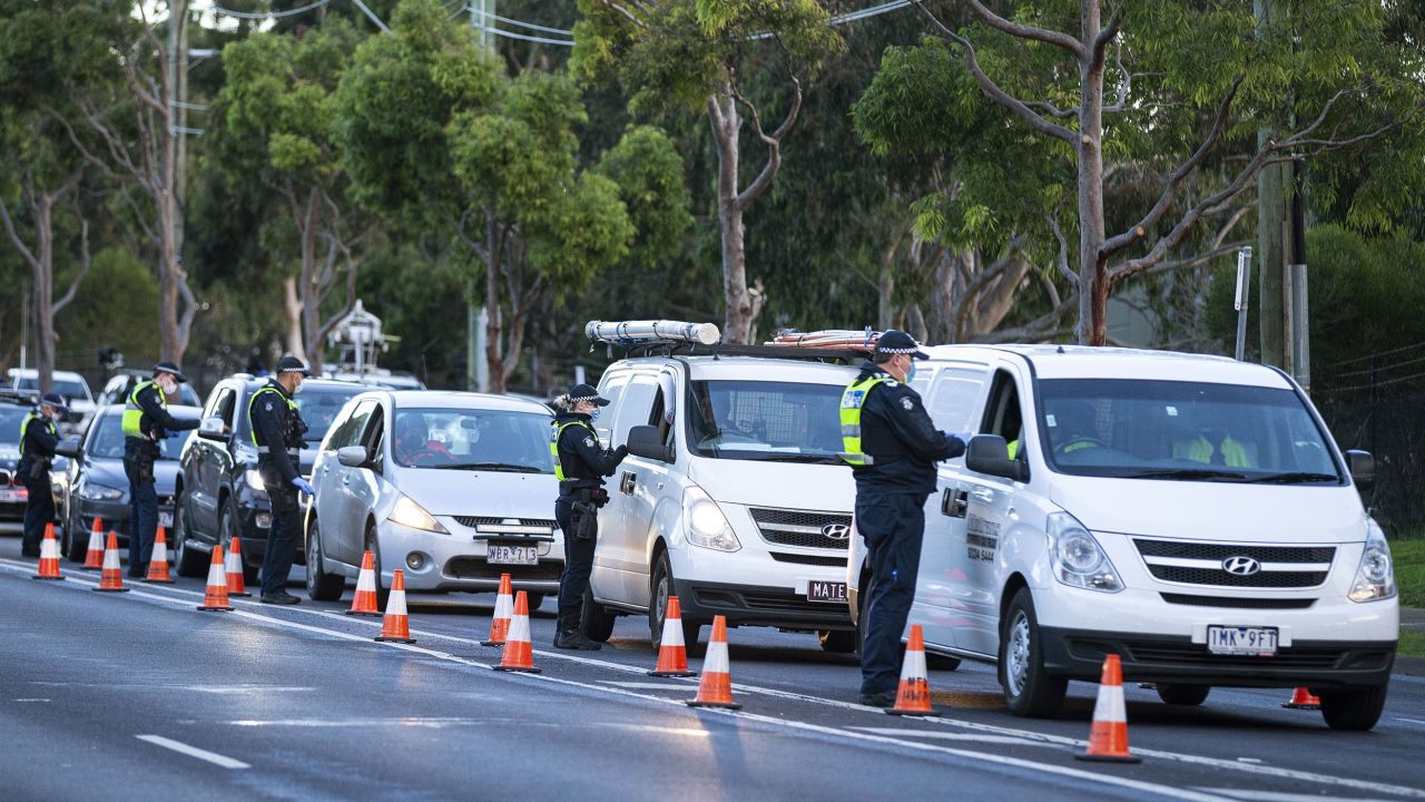
[(744, 709), (695, 711), (695, 679), (646, 675), (643, 619), (620, 619), (613, 648), (563, 652), (539, 611), (543, 674), (507, 675), (479, 645), (490, 597), (412, 597), (418, 642), (378, 644), (379, 619), (342, 615), (349, 589), (200, 612), (201, 581), (95, 594), (68, 562), (64, 582), (30, 579), (19, 549), (0, 538), (7, 801), (1425, 799), (1425, 679), (1411, 676), (1368, 734), (1281, 709), (1277, 691), (1170, 708), (1129, 688), (1143, 763), (1086, 763), (1093, 685), (1030, 721), (1003, 709), (988, 666), (932, 665), (942, 716), (901, 719), (855, 704), (852, 656), (734, 629)]

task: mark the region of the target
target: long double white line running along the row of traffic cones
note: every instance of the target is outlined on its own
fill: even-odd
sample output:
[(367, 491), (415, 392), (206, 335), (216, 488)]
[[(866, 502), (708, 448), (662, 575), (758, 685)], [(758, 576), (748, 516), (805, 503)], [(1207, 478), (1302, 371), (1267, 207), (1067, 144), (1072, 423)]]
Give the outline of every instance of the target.
[[(20, 562), (4, 559), (4, 558), (0, 558), (0, 568), (10, 568), (14, 572), (28, 572), (28, 571), (33, 569), (31, 565), (20, 564)], [(90, 582), (90, 581), (86, 581), (83, 578), (77, 579), (77, 581), (74, 581), (71, 584), (67, 584), (67, 587), (71, 587), (71, 588), (95, 587), (95, 585), (97, 585), (97, 582)], [(155, 601), (161, 601), (161, 602), (167, 602), (167, 604), (187, 604), (187, 601), (184, 601), (184, 599), (178, 599), (178, 598), (168, 597), (168, 595), (158, 595), (158, 594), (155, 594), (152, 591), (171, 591), (171, 592), (177, 592), (177, 594), (182, 594), (182, 595), (188, 595), (188, 597), (202, 597), (202, 594), (200, 594), (200, 592), (187, 591), (187, 589), (182, 589), (182, 588), (142, 588), (142, 589), (135, 589), (135, 592), (130, 594), (130, 598), (150, 598), (150, 599), (155, 599)], [(252, 608), (258, 606), (255, 602), (238, 602), (238, 604), (241, 606), (252, 606)], [(308, 631), (308, 632), (312, 632), (312, 634), (326, 635), (326, 636), (339, 638), (339, 639), (345, 639), (345, 641), (356, 641), (356, 642), (362, 642), (362, 644), (370, 644), (370, 641), (366, 636), (363, 636), (363, 635), (352, 635), (349, 632), (341, 632), (341, 631), (335, 631), (335, 629), (323, 629), (321, 626), (312, 626), (312, 625), (306, 625), (306, 624), (298, 624), (295, 621), (289, 621), (286, 618), (278, 618), (275, 615), (259, 615), (259, 614), (255, 614), (255, 612), (248, 612), (245, 609), (241, 609), (241, 606), (239, 606), (238, 611), (234, 612), (234, 616), (237, 616), (237, 618), (248, 618), (248, 619), (252, 619), (252, 621), (271, 622), (271, 624), (275, 624), (278, 626), (288, 626), (288, 628), (292, 628), (292, 629)], [(312, 608), (305, 608), (304, 609), (301, 606), (285, 608), (285, 609), (292, 611), (292, 612), (305, 612), (305, 614), (319, 615), (319, 616), (325, 616), (325, 618), (332, 618), (332, 619), (342, 621), (345, 624), (368, 625), (368, 626), (372, 626), (372, 628), (380, 626), (379, 621), (352, 619), (351, 616), (346, 616), (346, 615), (342, 615), (342, 614), (335, 614), (335, 612), (328, 612), (328, 611), (321, 611), (321, 609), (312, 609)], [(264, 611), (266, 611), (265, 606), (264, 606)], [(436, 638), (436, 639), (443, 639), (443, 641), (459, 642), (459, 644), (479, 645), (479, 641), (475, 641), (475, 639), (470, 639), (470, 638), (460, 638), (460, 636), (456, 636), (456, 635), (445, 635), (445, 634), (440, 634), (440, 632), (429, 632), (429, 631), (412, 629), (412, 634), (413, 635), (428, 636), (428, 638)], [(410, 651), (410, 652), (415, 652), (415, 654), (423, 654), (423, 655), (428, 655), (428, 656), (435, 656), (437, 659), (445, 659), (445, 661), (449, 661), (449, 662), (459, 662), (459, 664), (472, 665), (472, 666), (477, 666), (477, 668), (490, 668), (490, 664), (477, 662), (477, 661), (473, 661), (473, 659), (460, 658), (457, 655), (450, 655), (450, 654), (446, 654), (446, 652), (439, 652), (439, 651), (435, 651), (435, 649), (428, 649), (428, 648), (423, 648), (423, 646), (416, 646), (416, 645), (409, 645), (409, 644), (382, 644), (382, 646), (383, 648), (395, 648), (395, 649)], [(546, 651), (542, 651), (542, 649), (536, 649), (534, 654), (536, 655), (542, 655), (544, 658), (564, 659), (564, 661), (571, 661), (571, 662), (577, 662), (577, 664), (583, 664), (583, 665), (607, 668), (610, 671), (620, 671), (620, 672), (626, 672), (626, 674), (646, 674), (646, 671), (643, 668), (640, 668), (640, 666), (624, 665), (624, 664), (617, 664), (617, 662), (610, 662), (610, 661), (603, 661), (603, 659), (584, 658), (584, 656), (560, 654), (560, 652), (546, 652)], [(656, 702), (660, 702), (660, 704), (674, 704), (674, 705), (681, 705), (683, 704), (680, 699), (668, 699), (665, 696), (654, 696), (654, 695), (650, 695), (650, 694), (636, 694), (633, 689), (610, 688), (610, 686), (601, 685), (601, 684), (596, 685), (596, 684), (580, 682), (580, 681), (573, 681), (573, 679), (561, 679), (561, 678), (550, 676), (547, 674), (544, 674), (544, 675), (523, 675), (522, 679), (533, 679), (533, 681), (543, 681), (543, 682), (564, 684), (564, 685), (570, 685), (570, 686), (579, 686), (579, 688), (604, 691), (604, 692), (608, 692), (608, 694), (626, 695), (626, 696), (631, 696), (631, 698), (651, 699), (651, 701), (656, 701)], [(691, 685), (693, 681), (690, 681), (688, 684)], [(757, 695), (774, 696), (774, 698), (781, 698), (781, 699), (802, 701), (802, 702), (808, 702), (808, 704), (817, 704), (817, 705), (824, 705), (824, 706), (841, 708), (841, 709), (848, 709), (848, 711), (865, 711), (865, 712), (878, 712), (878, 714), (882, 712), (879, 708), (869, 708), (869, 706), (865, 706), (865, 705), (858, 705), (855, 702), (844, 702), (844, 701), (839, 701), (839, 699), (828, 699), (828, 698), (822, 698), (822, 696), (811, 696), (811, 695), (807, 695), (807, 694), (795, 694), (795, 692), (791, 692), (791, 691), (779, 691), (779, 689), (775, 689), (775, 688), (762, 688), (762, 686), (744, 685), (744, 684), (732, 684), (732, 688), (737, 689), (737, 691), (740, 691), (740, 692), (744, 692), (744, 694), (757, 694)], [(704, 712), (708, 712), (708, 711), (704, 711)], [(932, 749), (932, 751), (939, 751), (939, 752), (945, 752), (945, 753), (950, 753), (950, 755), (958, 755), (958, 756), (960, 756), (960, 755), (962, 756), (969, 756), (972, 759), (999, 758), (996, 755), (986, 755), (986, 753), (982, 753), (982, 752), (969, 752), (969, 751), (960, 751), (960, 749), (949, 749), (949, 748), (945, 748), (945, 746), (933, 746), (933, 745), (923, 743), (923, 742), (896, 741), (896, 739), (889, 738), (889, 736), (879, 736), (879, 735), (872, 735), (872, 734), (859, 734), (859, 732), (851, 732), (851, 731), (846, 731), (846, 729), (824, 728), (821, 725), (812, 725), (812, 724), (807, 724), (807, 722), (797, 722), (797, 721), (782, 719), (782, 718), (758, 716), (755, 714), (747, 714), (747, 712), (738, 712), (735, 715), (740, 716), (740, 718), (750, 719), (750, 721), (765, 719), (765, 721), (768, 721), (771, 724), (781, 725), (781, 726), (791, 726), (794, 729), (808, 729), (808, 728), (811, 728), (812, 731), (818, 731), (818, 732), (824, 729), (828, 734), (834, 734), (834, 735), (859, 736), (861, 739), (871, 739), (871, 741), (879, 739), (879, 741), (885, 741), (885, 742), (893, 742), (898, 746), (912, 745), (912, 748), (916, 748), (916, 749)], [(1012, 726), (980, 724), (980, 722), (965, 721), (965, 719), (932, 718), (932, 719), (926, 719), (926, 721), (931, 722), (932, 725), (953, 726), (953, 728), (960, 728), (960, 729), (978, 731), (978, 732), (989, 732), (989, 734), (995, 734), (995, 735), (1005, 735), (1005, 736), (1012, 736), (1012, 738), (1022, 738), (1025, 741), (1036, 741), (1036, 742), (1045, 742), (1045, 743), (1059, 743), (1059, 745), (1066, 745), (1066, 746), (1086, 746), (1087, 745), (1087, 741), (1084, 741), (1084, 739), (1067, 738), (1067, 736), (1062, 736), (1062, 735), (1049, 735), (1049, 734), (1043, 734), (1043, 732), (1036, 732), (1036, 731), (1030, 731), (1030, 729), (1017, 729), (1017, 728), (1012, 728)], [(1357, 791), (1369, 791), (1369, 792), (1377, 792), (1377, 793), (1391, 793), (1391, 795), (1396, 795), (1396, 796), (1406, 796), (1406, 798), (1412, 798), (1412, 799), (1425, 799), (1425, 791), (1418, 789), (1418, 788), (1401, 786), (1401, 785), (1389, 785), (1389, 783), (1371, 782), (1371, 781), (1362, 781), (1362, 779), (1354, 779), (1354, 778), (1321, 775), (1321, 773), (1305, 772), (1305, 771), (1298, 771), (1298, 769), (1284, 769), (1284, 768), (1277, 768), (1277, 766), (1241, 763), (1241, 762), (1237, 762), (1234, 759), (1224, 759), (1224, 758), (1208, 758), (1208, 756), (1203, 756), (1203, 755), (1190, 755), (1190, 753), (1183, 753), (1183, 752), (1168, 752), (1168, 751), (1161, 751), (1161, 749), (1143, 749), (1143, 748), (1139, 748), (1139, 746), (1136, 746), (1133, 749), (1133, 752), (1136, 755), (1140, 755), (1140, 756), (1144, 756), (1144, 758), (1151, 756), (1151, 758), (1159, 758), (1159, 759), (1164, 759), (1164, 761), (1176, 761), (1176, 762), (1183, 762), (1183, 763), (1190, 763), (1190, 765), (1201, 765), (1201, 766), (1211, 766), (1211, 768), (1220, 768), (1220, 769), (1233, 769), (1233, 771), (1238, 771), (1238, 772), (1244, 772), (1244, 773), (1251, 773), (1251, 775), (1274, 776), (1274, 778), (1280, 778), (1280, 779), (1292, 779), (1292, 781), (1312, 782), (1312, 783), (1318, 783), (1318, 785), (1335, 785), (1335, 786), (1351, 788), (1351, 789), (1357, 789)], [(1006, 759), (1017, 761), (1017, 758), (1006, 758)], [(990, 762), (999, 762), (999, 761), (990, 761)], [(1047, 766), (1047, 765), (1043, 765), (1043, 763), (1035, 763), (1032, 761), (1020, 761), (1019, 763), (1009, 763), (1009, 765), (1020, 765), (1020, 763), (1023, 763), (1023, 768), (1030, 768), (1030, 769), (1036, 769), (1036, 771), (1049, 771), (1050, 773), (1063, 773), (1063, 771), (1062, 771), (1060, 766)], [(1079, 769), (1067, 769), (1067, 771), (1079, 772)], [(1096, 781), (1100, 781), (1100, 782), (1110, 782), (1110, 779), (1117, 779), (1117, 778), (1110, 778), (1109, 775), (1097, 775), (1097, 773), (1092, 773), (1092, 772), (1079, 772), (1079, 773), (1083, 773), (1087, 778), (1092, 778), (1092, 779), (1096, 779)], [(1077, 776), (1077, 773), (1073, 775), (1073, 776)], [(1168, 788), (1168, 786), (1156, 786), (1156, 785), (1151, 785), (1151, 783), (1147, 783), (1147, 785), (1153, 789), (1151, 792), (1154, 792), (1154, 793), (1160, 793), (1160, 795), (1166, 795), (1166, 796), (1174, 796), (1174, 798), (1183, 798), (1183, 796), (1176, 796), (1180, 792), (1180, 789), (1174, 789), (1174, 788)], [(1140, 789), (1141, 791), (1147, 791), (1147, 788), (1140, 788)], [(1201, 799), (1201, 796), (1190, 796), (1190, 798), (1191, 799)], [(1188, 798), (1184, 798), (1184, 799), (1188, 799)]]

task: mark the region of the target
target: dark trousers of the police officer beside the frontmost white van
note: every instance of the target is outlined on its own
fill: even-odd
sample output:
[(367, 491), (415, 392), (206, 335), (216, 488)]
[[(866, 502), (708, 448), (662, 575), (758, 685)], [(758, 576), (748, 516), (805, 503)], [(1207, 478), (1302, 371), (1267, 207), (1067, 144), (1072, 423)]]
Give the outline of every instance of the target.
[(856, 528), (866, 539), (871, 587), (864, 615), (861, 692), (893, 694), (901, 679), (901, 634), (915, 599), (925, 537), (925, 494), (856, 491)]

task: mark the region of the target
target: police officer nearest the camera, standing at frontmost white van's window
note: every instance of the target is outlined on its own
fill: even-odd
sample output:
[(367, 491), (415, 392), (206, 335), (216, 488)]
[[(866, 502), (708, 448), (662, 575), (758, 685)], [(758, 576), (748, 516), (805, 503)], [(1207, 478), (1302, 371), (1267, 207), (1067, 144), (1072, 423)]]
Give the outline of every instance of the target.
[(841, 397), (841, 437), (856, 478), (856, 528), (866, 541), (871, 584), (862, 622), (861, 704), (889, 708), (901, 675), (901, 634), (915, 598), (925, 499), (935, 462), (965, 454), (965, 437), (936, 431), (908, 382), (929, 358), (903, 331), (876, 340), (871, 361)]

